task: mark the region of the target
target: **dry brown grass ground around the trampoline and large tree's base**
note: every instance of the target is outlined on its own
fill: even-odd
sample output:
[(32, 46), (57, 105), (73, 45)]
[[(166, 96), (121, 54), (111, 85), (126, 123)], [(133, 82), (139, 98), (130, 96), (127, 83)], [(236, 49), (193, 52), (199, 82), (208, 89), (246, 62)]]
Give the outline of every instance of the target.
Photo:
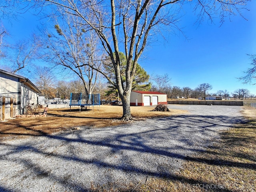
[[(143, 120), (145, 118), (164, 117), (187, 113), (184, 110), (171, 110), (171, 112), (153, 112), (153, 107), (132, 106), (131, 113), (134, 118)], [(72, 128), (87, 126), (88, 128), (100, 128), (124, 124), (118, 121), (122, 116), (122, 106), (101, 105), (83, 109), (58, 108), (49, 109), (47, 117), (27, 117), (0, 122), (0, 139), (17, 136), (35, 136), (60, 132)]]

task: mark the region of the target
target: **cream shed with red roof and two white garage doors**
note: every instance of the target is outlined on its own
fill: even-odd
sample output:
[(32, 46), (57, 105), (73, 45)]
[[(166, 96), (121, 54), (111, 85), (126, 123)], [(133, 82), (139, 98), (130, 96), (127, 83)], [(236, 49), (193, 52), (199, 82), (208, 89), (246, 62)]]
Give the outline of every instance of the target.
[(167, 95), (152, 91), (132, 91), (130, 106), (150, 106), (167, 104)]

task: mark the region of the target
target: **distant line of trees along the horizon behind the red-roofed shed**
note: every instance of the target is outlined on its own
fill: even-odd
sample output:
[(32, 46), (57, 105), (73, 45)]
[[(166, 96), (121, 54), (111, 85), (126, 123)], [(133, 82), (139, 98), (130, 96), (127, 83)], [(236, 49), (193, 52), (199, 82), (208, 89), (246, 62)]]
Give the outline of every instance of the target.
[[(141, 67), (139, 66), (139, 68)], [(109, 73), (111, 74), (111, 71)], [(34, 76), (36, 76), (34, 82), (42, 92), (41, 95), (45, 96), (45, 98), (69, 99), (71, 92), (86, 92), (84, 83), (80, 78), (71, 81), (56, 81), (54, 73), (47, 67), (37, 68)], [(142, 68), (141, 72), (138, 71), (137, 79), (134, 83), (134, 90), (162, 92), (167, 94), (167, 98), (169, 99), (205, 99), (207, 96), (222, 96), (243, 100), (255, 97), (253, 94), (250, 94), (248, 89), (237, 89), (233, 93), (229, 93), (227, 90), (218, 90), (216, 93), (211, 93), (210, 90), (212, 90), (212, 85), (208, 83), (202, 83), (192, 89), (190, 87), (180, 88), (178, 86), (171, 86), (170, 80), (171, 78), (168, 74), (162, 76), (156, 75), (150, 78)], [(89, 82), (86, 82), (86, 84), (87, 83)], [(100, 93), (101, 98), (105, 100), (118, 100), (119, 98), (117, 90), (115, 90), (103, 76), (98, 76), (92, 93)]]

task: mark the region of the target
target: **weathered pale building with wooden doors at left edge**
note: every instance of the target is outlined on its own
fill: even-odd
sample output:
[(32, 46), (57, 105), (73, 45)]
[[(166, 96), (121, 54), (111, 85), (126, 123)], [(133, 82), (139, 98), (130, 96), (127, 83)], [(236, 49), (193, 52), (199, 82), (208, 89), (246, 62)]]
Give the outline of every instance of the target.
[(28, 78), (0, 69), (0, 119), (24, 114), (28, 103), (38, 103), (39, 93)]

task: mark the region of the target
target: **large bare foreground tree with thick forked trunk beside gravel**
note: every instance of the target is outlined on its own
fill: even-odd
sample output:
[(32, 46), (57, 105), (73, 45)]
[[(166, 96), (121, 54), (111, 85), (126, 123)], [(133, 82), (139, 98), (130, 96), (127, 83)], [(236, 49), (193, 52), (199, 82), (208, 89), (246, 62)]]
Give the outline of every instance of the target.
[[(130, 93), (138, 59), (150, 39), (160, 29), (177, 28), (178, 13), (185, 0), (46, 0), (56, 5), (60, 16), (72, 14), (82, 18), (81, 24), (88, 26), (100, 38), (115, 69), (116, 88), (123, 103), (122, 120), (131, 120)], [(193, 3), (200, 18), (210, 18), (217, 13), (221, 21), (226, 16), (240, 13), (246, 0), (197, 1)], [(56, 14), (56, 12), (55, 12)], [(126, 82), (120, 75), (119, 51), (126, 55)], [(116, 53), (114, 55), (114, 52)], [(86, 63), (90, 65), (90, 63)], [(95, 70), (102, 70), (93, 67)], [(104, 72), (102, 72), (104, 74)], [(104, 74), (107, 77), (107, 74)], [(108, 79), (111, 82), (110, 79)], [(115, 86), (114, 82), (111, 82)]]

